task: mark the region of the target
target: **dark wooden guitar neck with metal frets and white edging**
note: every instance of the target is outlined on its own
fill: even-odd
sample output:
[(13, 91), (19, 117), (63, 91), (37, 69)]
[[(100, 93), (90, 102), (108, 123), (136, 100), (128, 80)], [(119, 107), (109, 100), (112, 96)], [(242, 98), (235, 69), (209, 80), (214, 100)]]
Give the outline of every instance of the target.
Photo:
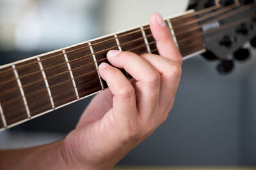
[[(200, 29), (184, 32), (188, 29), (184, 23), (195, 18), (193, 11), (189, 11), (166, 20), (184, 59), (204, 52)], [(189, 27), (197, 26), (197, 22), (189, 24)], [(100, 78), (98, 66), (108, 62), (106, 53), (109, 50), (158, 54), (149, 25), (142, 25), (1, 66), (0, 129), (106, 89), (108, 85)]]

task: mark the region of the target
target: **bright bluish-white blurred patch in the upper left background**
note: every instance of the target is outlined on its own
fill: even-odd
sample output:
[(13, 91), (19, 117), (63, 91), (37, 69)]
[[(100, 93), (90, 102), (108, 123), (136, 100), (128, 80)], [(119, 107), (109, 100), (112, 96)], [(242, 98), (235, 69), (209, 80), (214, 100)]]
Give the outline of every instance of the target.
[(99, 5), (97, 0), (0, 0), (0, 48), (47, 50), (92, 38)]

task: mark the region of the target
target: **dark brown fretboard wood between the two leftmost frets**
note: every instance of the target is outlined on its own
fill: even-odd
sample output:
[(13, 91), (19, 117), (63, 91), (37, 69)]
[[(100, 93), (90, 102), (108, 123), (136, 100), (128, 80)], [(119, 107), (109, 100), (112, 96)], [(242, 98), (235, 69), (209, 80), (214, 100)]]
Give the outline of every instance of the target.
[(0, 102), (6, 124), (10, 125), (28, 118), (12, 67), (5, 67), (0, 70), (0, 80)]

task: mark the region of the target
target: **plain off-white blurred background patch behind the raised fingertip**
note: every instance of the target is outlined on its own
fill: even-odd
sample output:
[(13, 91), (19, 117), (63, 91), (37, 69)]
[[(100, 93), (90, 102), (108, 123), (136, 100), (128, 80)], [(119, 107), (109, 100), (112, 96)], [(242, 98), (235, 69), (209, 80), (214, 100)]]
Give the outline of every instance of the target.
[(154, 12), (163, 17), (180, 14), (188, 8), (189, 0), (106, 0), (104, 6), (104, 33), (122, 31), (149, 22)]

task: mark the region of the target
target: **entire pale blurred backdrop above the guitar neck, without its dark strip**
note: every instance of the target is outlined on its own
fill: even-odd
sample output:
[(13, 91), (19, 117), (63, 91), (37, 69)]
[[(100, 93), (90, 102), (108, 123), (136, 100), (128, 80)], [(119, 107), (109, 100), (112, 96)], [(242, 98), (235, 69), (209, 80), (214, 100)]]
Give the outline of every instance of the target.
[(169, 17), (188, 0), (0, 0), (0, 50), (54, 50)]

